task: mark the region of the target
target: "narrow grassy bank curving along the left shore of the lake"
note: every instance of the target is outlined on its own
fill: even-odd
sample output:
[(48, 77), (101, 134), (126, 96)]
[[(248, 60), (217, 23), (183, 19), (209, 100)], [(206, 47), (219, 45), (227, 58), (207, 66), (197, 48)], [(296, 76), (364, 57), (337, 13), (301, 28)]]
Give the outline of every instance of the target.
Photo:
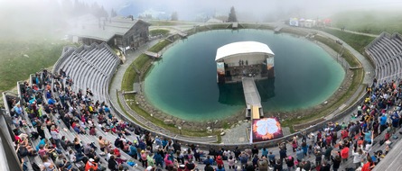
[[(161, 49), (164, 49), (167, 45), (169, 45), (171, 42), (167, 40), (162, 40), (159, 43), (155, 44), (152, 48), (148, 49), (153, 52), (158, 52)], [(145, 54), (140, 55), (136, 60), (128, 67), (129, 69), (126, 70), (125, 75), (123, 76), (123, 81), (121, 84), (121, 89), (124, 91), (132, 91), (133, 90), (133, 84), (135, 82), (140, 82), (143, 81), (144, 76), (146, 75), (147, 70), (149, 70), (149, 67), (151, 66), (152, 59), (146, 56)], [(135, 69), (131, 69), (133, 67), (136, 67), (140, 71), (140, 75), (136, 73)], [(136, 99), (136, 94), (126, 94), (125, 95), (126, 100), (132, 100), (131, 102), (127, 102), (129, 107), (138, 113), (139, 115), (143, 116), (146, 120), (148, 121), (153, 121), (154, 124), (159, 125), (163, 127), (166, 130), (170, 130), (174, 133), (180, 133), (180, 130), (178, 130), (173, 124), (165, 124), (164, 121), (159, 120), (157, 118), (154, 118), (151, 116), (148, 112), (143, 110), (139, 105), (134, 103)], [(121, 102), (118, 102), (119, 105), (121, 106)], [(130, 115), (126, 112), (126, 115), (130, 117)], [(133, 117), (130, 117), (131, 119), (135, 120)], [(182, 130), (181, 131), (183, 135), (188, 135), (188, 136), (209, 136), (211, 135), (210, 133), (207, 133), (206, 131), (194, 131), (194, 130)]]

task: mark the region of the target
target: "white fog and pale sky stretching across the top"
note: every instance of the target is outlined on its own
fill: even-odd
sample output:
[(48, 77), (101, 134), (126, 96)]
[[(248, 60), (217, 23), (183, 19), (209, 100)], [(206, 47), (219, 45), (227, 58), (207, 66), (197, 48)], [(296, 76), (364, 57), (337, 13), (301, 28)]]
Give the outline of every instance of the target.
[(177, 12), (182, 21), (227, 16), (234, 6), (239, 22), (275, 22), (289, 17), (322, 19), (350, 10), (397, 11), (402, 7), (399, 0), (0, 0), (0, 38), (60, 36), (69, 29), (67, 21), (76, 17), (68, 9), (76, 2), (97, 3), (108, 14), (113, 8), (117, 15), (151, 14), (161, 20), (169, 20)]

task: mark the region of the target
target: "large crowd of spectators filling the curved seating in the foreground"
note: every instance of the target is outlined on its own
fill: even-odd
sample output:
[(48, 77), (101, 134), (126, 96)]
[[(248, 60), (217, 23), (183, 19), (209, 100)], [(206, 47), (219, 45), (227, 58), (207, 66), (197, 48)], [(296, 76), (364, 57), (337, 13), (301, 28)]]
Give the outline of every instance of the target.
[[(107, 103), (93, 100), (96, 92), (74, 92), (73, 80), (62, 70), (43, 70), (32, 81), (22, 85), (22, 99), (7, 101), (23, 170), (39, 157), (42, 163), (31, 162), (33, 170), (336, 171), (342, 166), (368, 171), (387, 155), (402, 124), (402, 81), (374, 80), (350, 121), (328, 122), (317, 132), (279, 143), (278, 149), (201, 149), (120, 120)], [(373, 148), (376, 143), (385, 148)]]

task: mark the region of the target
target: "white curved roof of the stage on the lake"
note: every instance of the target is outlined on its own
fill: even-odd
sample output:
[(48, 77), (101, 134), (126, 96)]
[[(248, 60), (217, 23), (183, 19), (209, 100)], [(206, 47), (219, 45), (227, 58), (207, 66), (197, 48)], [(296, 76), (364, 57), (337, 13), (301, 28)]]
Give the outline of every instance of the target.
[(215, 61), (220, 59), (229, 58), (238, 54), (250, 54), (250, 53), (266, 53), (274, 56), (274, 52), (269, 49), (268, 45), (257, 41), (238, 41), (227, 44), (220, 47), (217, 50)]

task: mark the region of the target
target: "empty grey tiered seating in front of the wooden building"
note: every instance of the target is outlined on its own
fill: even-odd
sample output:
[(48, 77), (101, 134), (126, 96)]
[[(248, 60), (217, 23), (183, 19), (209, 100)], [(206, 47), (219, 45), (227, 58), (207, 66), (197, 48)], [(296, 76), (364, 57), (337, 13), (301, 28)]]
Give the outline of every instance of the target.
[(85, 91), (89, 88), (94, 94), (92, 97), (94, 100), (107, 102), (107, 82), (110, 74), (120, 63), (115, 53), (106, 43), (63, 49), (67, 50), (73, 52), (53, 71), (58, 72), (62, 69), (70, 76), (75, 81), (72, 87), (74, 91), (78, 92), (79, 89)]

